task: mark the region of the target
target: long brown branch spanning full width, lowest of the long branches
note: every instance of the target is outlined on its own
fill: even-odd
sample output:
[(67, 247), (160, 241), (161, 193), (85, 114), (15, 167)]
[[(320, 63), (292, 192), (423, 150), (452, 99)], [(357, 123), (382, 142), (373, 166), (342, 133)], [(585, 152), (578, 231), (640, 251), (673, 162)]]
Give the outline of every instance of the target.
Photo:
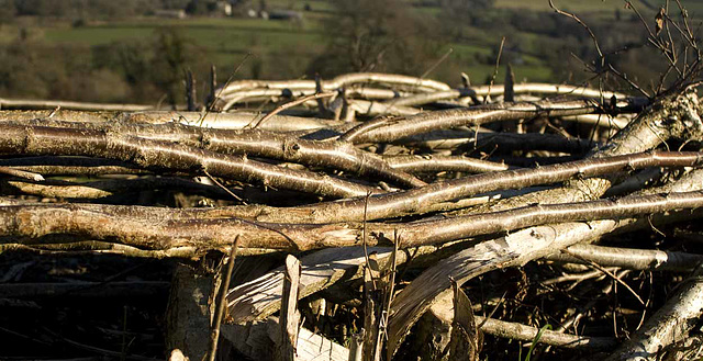
[[(629, 196), (617, 201), (535, 205), (516, 210), (409, 224), (367, 224), (368, 245), (388, 244), (393, 233), (401, 248), (443, 244), (473, 236), (572, 221), (626, 218), (640, 214), (703, 206), (703, 191)], [(75, 210), (70, 205), (0, 206), (0, 236), (40, 240), (48, 235), (76, 235), (114, 240), (146, 249), (200, 247), (223, 249), (241, 234), (241, 247), (311, 250), (358, 246), (362, 224), (256, 224), (242, 219), (127, 218)], [(32, 244), (32, 241), (25, 241)]]

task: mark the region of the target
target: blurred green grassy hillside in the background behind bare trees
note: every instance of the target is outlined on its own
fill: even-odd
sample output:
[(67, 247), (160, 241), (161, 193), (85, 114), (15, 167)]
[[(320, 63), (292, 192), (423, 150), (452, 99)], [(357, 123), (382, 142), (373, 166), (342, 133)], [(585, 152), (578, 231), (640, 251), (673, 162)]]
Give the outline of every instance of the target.
[[(604, 43), (611, 37), (622, 37), (623, 34), (641, 32), (641, 25), (635, 20), (631, 10), (624, 9), (623, 1), (614, 0), (557, 0), (563, 10), (578, 13), (592, 24), (599, 33), (604, 34)], [(288, 0), (270, 0), (271, 9), (287, 8)], [(432, 2), (419, 3), (409, 0), (411, 11), (421, 19), (435, 21), (444, 25), (446, 15), (443, 9), (432, 5)], [(636, 8), (646, 16), (652, 19), (654, 0), (634, 1)], [(201, 66), (215, 64), (221, 74), (230, 74), (242, 58), (250, 53), (252, 58), (242, 67), (237, 77), (241, 78), (299, 78), (317, 71), (311, 61), (320, 58), (326, 50), (328, 30), (324, 27), (325, 20), (334, 16), (334, 7), (326, 0), (297, 1), (293, 9), (303, 13), (302, 22), (267, 21), (246, 18), (188, 18), (185, 20), (138, 18), (113, 21), (86, 21), (77, 24), (71, 20), (55, 19), (18, 19), (11, 24), (0, 25), (0, 45), (16, 43), (19, 38), (29, 40), (31, 44), (42, 44), (48, 47), (96, 48), (98, 46), (113, 46), (115, 44), (150, 44), (158, 30), (171, 29), (188, 40), (190, 56), (198, 59)], [(305, 4), (311, 11), (304, 11)], [(673, 2), (672, 2), (673, 5)], [(684, 1), (690, 14), (695, 19), (703, 13), (703, 0)], [(585, 33), (570, 20), (561, 25), (571, 26), (574, 35), (561, 34), (555, 29), (551, 10), (547, 0), (495, 0), (494, 10), (487, 13), (486, 19), (472, 24), (462, 24), (459, 35), (439, 37), (439, 46), (431, 56), (431, 63), (443, 57), (449, 49), (451, 54), (428, 75), (444, 81), (456, 83), (458, 74), (465, 71), (476, 82), (484, 82), (493, 72), (498, 44), (501, 36), (506, 36), (505, 58), (510, 61), (518, 80), (529, 81), (566, 81), (569, 80), (569, 69), (566, 65), (555, 61), (572, 61), (569, 55), (578, 52), (579, 47), (590, 46)], [(512, 16), (511, 19), (507, 19)], [(621, 16), (624, 25), (613, 25), (616, 16)], [(515, 20), (524, 20), (524, 24), (515, 24)], [(549, 21), (545, 21), (549, 20)], [(504, 22), (504, 23), (500, 23)], [(551, 26), (551, 27), (549, 27)], [(627, 27), (629, 26), (629, 27)], [(634, 31), (633, 31), (634, 29)], [(612, 34), (613, 31), (620, 32)], [(437, 35), (438, 36), (438, 35)], [(620, 41), (621, 43), (623, 41)], [(553, 46), (555, 52), (561, 49), (559, 56), (550, 55), (545, 46)], [(573, 48), (568, 49), (568, 46)], [(566, 59), (565, 59), (566, 58)], [(635, 61), (631, 61), (635, 63)], [(98, 65), (100, 67), (102, 65)], [(573, 65), (571, 65), (573, 66)], [(578, 66), (578, 65), (577, 65)], [(423, 69), (429, 68), (429, 65)], [(392, 70), (392, 69), (391, 69)], [(424, 70), (414, 70), (420, 76)], [(499, 74), (499, 81), (503, 75)], [(202, 77), (201, 77), (202, 79)], [(8, 95), (8, 91), (0, 93)]]

